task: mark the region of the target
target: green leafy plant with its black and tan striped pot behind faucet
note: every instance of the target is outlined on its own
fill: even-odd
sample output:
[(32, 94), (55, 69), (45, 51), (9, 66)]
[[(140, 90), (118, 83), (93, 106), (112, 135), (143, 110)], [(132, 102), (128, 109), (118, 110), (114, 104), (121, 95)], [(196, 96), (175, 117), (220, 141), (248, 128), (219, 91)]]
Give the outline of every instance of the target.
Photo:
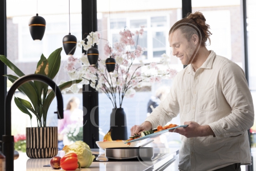
[[(47, 59), (42, 54), (36, 66), (35, 74), (45, 75), (50, 79), (54, 79), (60, 68), (61, 51), (62, 48), (58, 48), (52, 52)], [(0, 60), (17, 74), (17, 76), (4, 75), (12, 83), (19, 77), (25, 75), (18, 67), (7, 59), (6, 56), (0, 55)], [(81, 80), (72, 80), (63, 83), (58, 87), (60, 90), (63, 90), (71, 87), (72, 84), (79, 82), (81, 82)], [(31, 103), (25, 99), (14, 97), (15, 104), (23, 113), (29, 115), (30, 119), (32, 119), (32, 115), (34, 115), (38, 126), (26, 128), (27, 156), (30, 158), (49, 158), (56, 156), (58, 153), (58, 127), (46, 127), (47, 112), (51, 101), (55, 97), (54, 92), (51, 91), (48, 93), (48, 85), (38, 81), (27, 82), (22, 84), (18, 89), (25, 93)]]

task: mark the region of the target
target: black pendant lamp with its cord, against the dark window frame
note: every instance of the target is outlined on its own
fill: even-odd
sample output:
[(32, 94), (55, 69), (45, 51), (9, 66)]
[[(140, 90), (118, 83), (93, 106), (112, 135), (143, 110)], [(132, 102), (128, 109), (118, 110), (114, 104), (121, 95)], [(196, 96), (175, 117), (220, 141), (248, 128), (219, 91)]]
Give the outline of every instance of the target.
[[(93, 3), (93, 0), (92, 0)], [(92, 47), (87, 50), (87, 58), (90, 65), (95, 66), (97, 60), (99, 59), (99, 51), (97, 48), (94, 48), (94, 13), (93, 13), (93, 4), (92, 4)]]

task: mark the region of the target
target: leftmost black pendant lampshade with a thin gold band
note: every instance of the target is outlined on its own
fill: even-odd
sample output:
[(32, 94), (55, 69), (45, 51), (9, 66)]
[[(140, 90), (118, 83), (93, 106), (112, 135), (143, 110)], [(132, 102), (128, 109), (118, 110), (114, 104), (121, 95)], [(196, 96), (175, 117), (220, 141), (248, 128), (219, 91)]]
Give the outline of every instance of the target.
[(29, 21), (29, 31), (33, 40), (42, 40), (44, 31), (46, 30), (46, 20), (43, 17), (31, 17)]

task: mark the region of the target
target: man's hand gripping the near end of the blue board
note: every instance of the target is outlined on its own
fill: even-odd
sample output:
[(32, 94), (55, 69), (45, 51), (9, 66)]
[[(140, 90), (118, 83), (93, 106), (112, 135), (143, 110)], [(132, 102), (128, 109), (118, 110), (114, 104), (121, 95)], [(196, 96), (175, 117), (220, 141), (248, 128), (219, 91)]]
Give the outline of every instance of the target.
[(214, 136), (214, 132), (209, 125), (199, 125), (192, 121), (185, 122), (184, 125), (188, 125), (188, 127), (172, 129), (169, 132), (177, 132), (187, 138)]

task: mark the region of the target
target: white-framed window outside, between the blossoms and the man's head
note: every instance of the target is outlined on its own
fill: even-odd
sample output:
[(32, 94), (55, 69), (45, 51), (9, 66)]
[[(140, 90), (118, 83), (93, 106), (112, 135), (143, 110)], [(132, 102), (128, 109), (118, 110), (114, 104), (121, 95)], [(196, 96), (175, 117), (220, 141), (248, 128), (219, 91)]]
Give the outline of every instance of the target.
[[(136, 15), (133, 14), (133, 15)], [(137, 13), (137, 15), (141, 15)], [(154, 15), (154, 14), (153, 14)], [(159, 15), (159, 14), (155, 14)], [(105, 15), (107, 17), (107, 14)], [(119, 15), (117, 15), (118, 17)], [(131, 18), (114, 18), (110, 19), (110, 28), (112, 42), (115, 43), (119, 40), (120, 30), (128, 28), (131, 31), (140, 30), (140, 27), (144, 27), (144, 34), (139, 36), (138, 44), (141, 47), (145, 47), (143, 54), (143, 59), (145, 62), (157, 62), (162, 54), (166, 53), (166, 49), (169, 52), (168, 48), (168, 17), (167, 15), (151, 17), (152, 14), (142, 15), (141, 19)], [(116, 16), (115, 16), (116, 17)], [(108, 17), (109, 18), (109, 17)], [(111, 17), (110, 17), (111, 18)], [(137, 40), (137, 38), (135, 38)], [(137, 42), (136, 42), (137, 44)], [(131, 47), (133, 49), (133, 47)], [(158, 58), (158, 59), (157, 59)]]

